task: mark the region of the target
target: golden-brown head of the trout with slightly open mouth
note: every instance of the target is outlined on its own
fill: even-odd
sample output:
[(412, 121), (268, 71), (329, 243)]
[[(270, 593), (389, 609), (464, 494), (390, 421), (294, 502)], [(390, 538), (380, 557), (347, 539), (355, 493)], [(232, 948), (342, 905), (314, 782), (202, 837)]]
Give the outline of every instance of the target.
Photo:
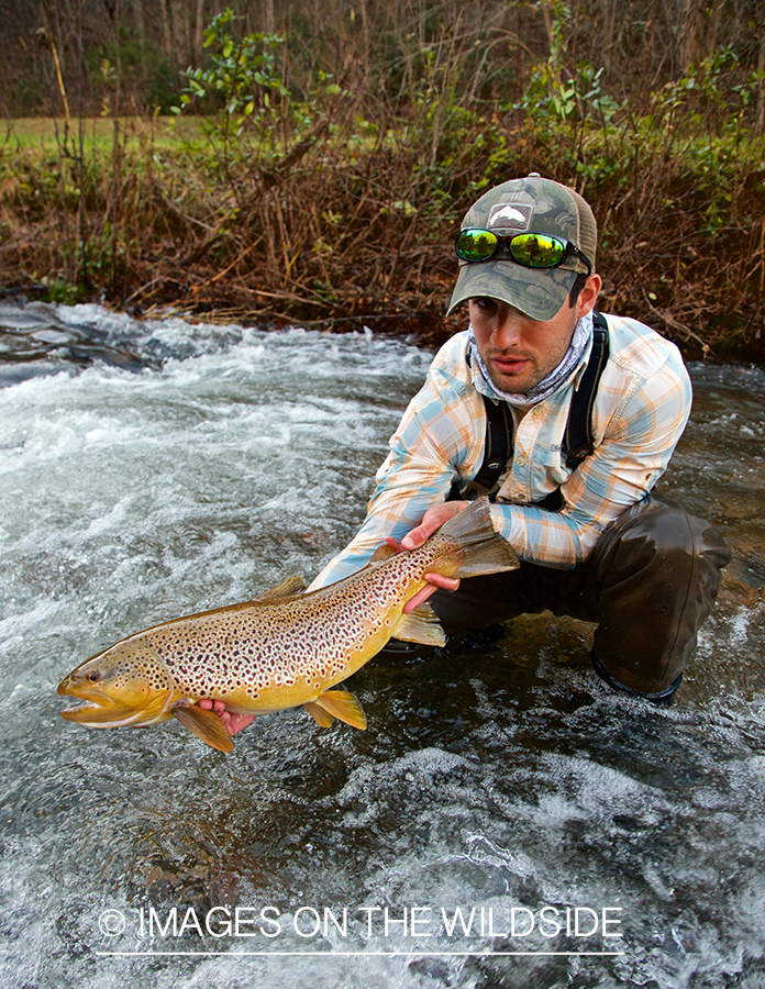
[(118, 643), (86, 659), (62, 680), (57, 692), (82, 701), (62, 711), (67, 721), (118, 727), (170, 718), (167, 707), (174, 686), (162, 656), (138, 640)]

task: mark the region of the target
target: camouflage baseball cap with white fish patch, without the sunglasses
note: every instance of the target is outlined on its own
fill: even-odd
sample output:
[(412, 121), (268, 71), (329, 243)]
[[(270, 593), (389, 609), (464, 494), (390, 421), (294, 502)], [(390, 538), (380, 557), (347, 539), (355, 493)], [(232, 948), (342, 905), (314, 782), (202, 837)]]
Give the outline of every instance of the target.
[[(565, 237), (595, 270), (598, 225), (588, 203), (568, 186), (532, 173), (485, 192), (465, 214), (467, 226), (498, 234), (532, 231)], [(485, 262), (459, 262), (448, 312), (466, 299), (486, 296), (514, 305), (532, 320), (551, 320), (566, 301), (576, 276), (587, 266), (572, 255), (558, 268), (526, 268), (502, 249)]]

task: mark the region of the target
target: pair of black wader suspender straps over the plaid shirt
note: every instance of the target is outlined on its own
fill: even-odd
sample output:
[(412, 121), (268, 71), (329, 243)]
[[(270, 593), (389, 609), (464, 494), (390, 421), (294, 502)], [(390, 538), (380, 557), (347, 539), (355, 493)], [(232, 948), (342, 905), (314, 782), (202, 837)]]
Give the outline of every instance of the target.
[[(600, 376), (608, 363), (608, 323), (602, 313), (594, 312), (592, 351), (581, 376), (581, 382), (572, 398), (568, 422), (563, 437), (562, 453), (569, 470), (577, 468), (585, 457), (592, 453), (592, 408), (598, 393)], [(484, 462), (476, 477), (467, 485), (463, 485), (458, 480), (452, 484), (447, 501), (469, 498), (473, 491), (475, 491), (473, 497), (481, 492), (489, 492), (489, 497), (494, 501), (496, 497), (494, 489), (512, 455), (513, 424), (510, 407), (507, 402), (492, 402), (486, 396), (483, 398), (486, 407)], [(540, 502), (540, 505), (552, 511), (559, 511), (563, 507), (559, 489), (552, 491)]]

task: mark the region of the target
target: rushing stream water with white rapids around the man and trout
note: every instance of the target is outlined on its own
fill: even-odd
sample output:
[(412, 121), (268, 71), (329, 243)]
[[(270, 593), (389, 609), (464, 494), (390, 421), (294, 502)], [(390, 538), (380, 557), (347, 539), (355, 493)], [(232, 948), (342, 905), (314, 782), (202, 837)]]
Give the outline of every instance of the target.
[(372, 660), (366, 732), (60, 718), (101, 647), (318, 573), (431, 357), (0, 305), (0, 986), (765, 986), (762, 369), (690, 368), (661, 490), (734, 560), (672, 707), (542, 615)]

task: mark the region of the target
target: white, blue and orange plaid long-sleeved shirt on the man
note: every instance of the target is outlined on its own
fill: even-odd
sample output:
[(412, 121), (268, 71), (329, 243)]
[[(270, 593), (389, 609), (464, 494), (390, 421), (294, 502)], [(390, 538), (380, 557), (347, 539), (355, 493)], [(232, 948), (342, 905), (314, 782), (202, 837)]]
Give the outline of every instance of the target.
[[(521, 559), (563, 569), (579, 566), (609, 522), (653, 488), (688, 421), (690, 379), (677, 347), (636, 320), (609, 315), (608, 325), (610, 354), (592, 412), (595, 452), (574, 471), (561, 445), (591, 345), (548, 399), (531, 409), (510, 407), (512, 463), (491, 516)], [(496, 397), (468, 365), (467, 347), (467, 333), (457, 333), (435, 356), (390, 440), (364, 525), (312, 588), (355, 573), (386, 536), (401, 540), (430, 505), (444, 501), (455, 477), (472, 480), (480, 469), (481, 395)], [(558, 487), (559, 512), (534, 504)]]

